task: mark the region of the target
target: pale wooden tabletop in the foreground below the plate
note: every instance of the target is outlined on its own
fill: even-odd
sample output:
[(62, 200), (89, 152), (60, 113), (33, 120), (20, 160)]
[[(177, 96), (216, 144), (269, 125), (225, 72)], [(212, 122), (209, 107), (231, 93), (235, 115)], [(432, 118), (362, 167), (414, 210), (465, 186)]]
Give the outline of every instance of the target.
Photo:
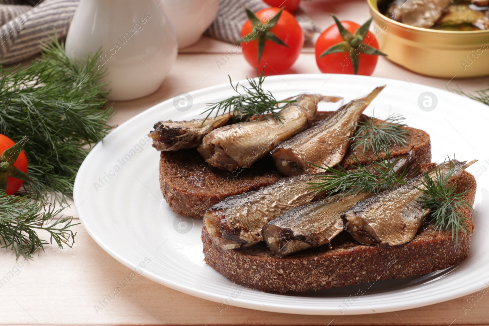
[[(115, 261), (83, 229), (72, 249), (51, 246), (16, 269), (1, 252), (1, 325), (487, 325), (488, 295), (466, 296), (418, 309), (359, 316), (302, 316), (226, 306), (192, 297), (137, 276)], [(20, 260), (22, 261), (22, 259)], [(121, 293), (107, 299), (113, 289)], [(479, 299), (478, 299), (479, 298)], [(106, 301), (104, 304), (103, 301)], [(473, 307), (467, 309), (467, 300)], [(95, 305), (99, 309), (95, 308)], [(455, 320), (455, 322), (454, 322)]]

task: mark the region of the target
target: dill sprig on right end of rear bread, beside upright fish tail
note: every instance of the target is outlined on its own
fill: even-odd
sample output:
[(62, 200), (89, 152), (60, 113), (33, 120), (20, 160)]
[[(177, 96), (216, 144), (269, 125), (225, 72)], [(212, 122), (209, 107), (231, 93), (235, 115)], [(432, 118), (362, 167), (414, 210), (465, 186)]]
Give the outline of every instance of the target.
[(378, 153), (392, 144), (406, 147), (409, 140), (409, 131), (403, 129), (405, 118), (400, 114), (392, 114), (380, 123), (375, 123), (375, 117), (368, 117), (367, 121), (361, 121), (357, 125), (353, 137), (352, 149), (363, 147), (363, 153), (372, 150)]

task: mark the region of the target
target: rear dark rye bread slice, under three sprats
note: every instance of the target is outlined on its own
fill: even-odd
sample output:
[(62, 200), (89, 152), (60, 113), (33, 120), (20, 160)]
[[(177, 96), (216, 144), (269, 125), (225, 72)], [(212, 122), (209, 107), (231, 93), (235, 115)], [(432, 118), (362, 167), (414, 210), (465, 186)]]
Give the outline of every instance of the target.
[[(333, 112), (319, 112), (317, 122)], [(366, 116), (362, 116), (365, 119)], [(377, 120), (380, 122), (380, 120)], [(413, 149), (413, 156), (419, 164), (431, 162), (431, 143), (429, 135), (419, 129), (406, 127), (410, 131), (409, 144), (404, 147), (393, 146), (393, 157)], [(362, 149), (349, 150), (341, 165), (349, 166), (355, 153), (362, 163), (366, 163), (371, 152), (362, 155)], [(253, 163), (249, 169), (232, 172), (211, 167), (196, 149), (161, 152), (159, 182), (166, 201), (179, 215), (202, 218), (206, 209), (222, 199), (256, 190), (277, 182), (285, 175), (278, 172), (269, 156)]]

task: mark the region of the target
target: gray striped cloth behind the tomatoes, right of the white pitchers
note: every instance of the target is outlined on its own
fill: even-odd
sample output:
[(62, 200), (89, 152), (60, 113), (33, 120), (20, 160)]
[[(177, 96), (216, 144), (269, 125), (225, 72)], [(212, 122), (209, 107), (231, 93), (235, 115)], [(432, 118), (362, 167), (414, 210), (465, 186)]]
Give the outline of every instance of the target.
[[(214, 39), (235, 43), (241, 36), (244, 22), (248, 19), (244, 7), (257, 12), (269, 5), (262, 0), (221, 0), (218, 15), (206, 34)], [(321, 31), (300, 8), (293, 15), (301, 26), (306, 40), (310, 40), (314, 33)]]

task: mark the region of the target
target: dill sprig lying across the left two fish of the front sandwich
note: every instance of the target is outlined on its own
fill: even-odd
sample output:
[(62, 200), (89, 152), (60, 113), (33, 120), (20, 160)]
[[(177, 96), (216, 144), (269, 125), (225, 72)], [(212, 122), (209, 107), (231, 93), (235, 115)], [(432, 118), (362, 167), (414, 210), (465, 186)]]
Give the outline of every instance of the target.
[(323, 182), (309, 183), (311, 189), (317, 189), (317, 192), (326, 191), (330, 194), (338, 192), (348, 192), (359, 194), (368, 192), (378, 194), (386, 189), (392, 188), (396, 184), (404, 183), (405, 170), (399, 171), (397, 165), (400, 157), (391, 159), (391, 153), (387, 152), (385, 158), (380, 158), (376, 154), (375, 159), (369, 159), (370, 164), (362, 165), (356, 155), (353, 157), (355, 168), (346, 170), (338, 165), (338, 168), (329, 166), (320, 167), (328, 172), (324, 175)]

